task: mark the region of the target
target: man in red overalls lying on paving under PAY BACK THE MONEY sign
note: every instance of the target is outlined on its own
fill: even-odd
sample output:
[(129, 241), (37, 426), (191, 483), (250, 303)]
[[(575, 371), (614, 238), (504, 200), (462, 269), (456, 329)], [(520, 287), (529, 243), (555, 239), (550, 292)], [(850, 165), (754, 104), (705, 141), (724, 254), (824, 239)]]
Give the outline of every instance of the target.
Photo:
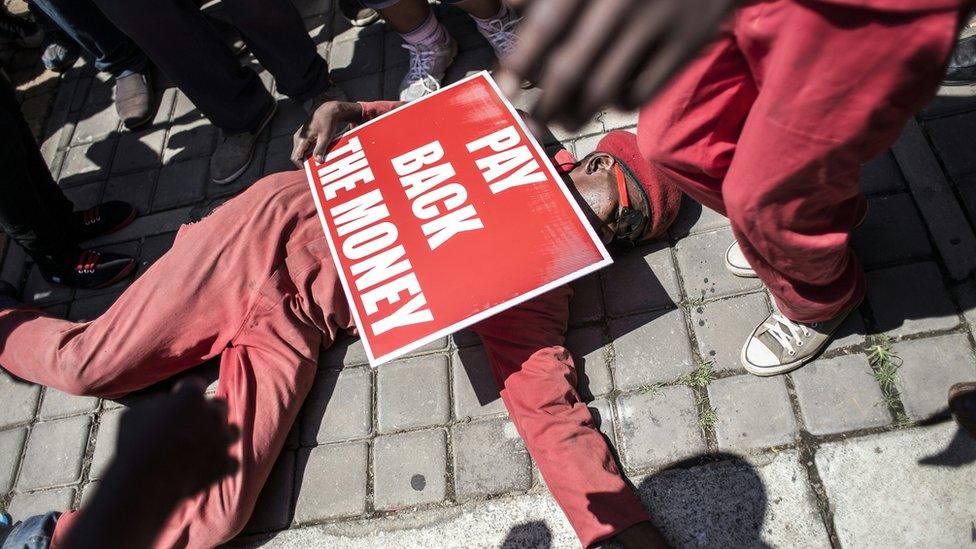
[[(294, 158), (322, 153), (336, 127), (398, 103), (327, 103)], [(614, 247), (661, 235), (679, 193), (639, 161), (636, 138), (613, 132), (597, 152), (556, 161), (569, 188)], [(322, 348), (355, 333), (302, 171), (255, 183), (209, 217), (182, 227), (172, 249), (98, 319), (74, 323), (25, 307), (0, 311), (0, 366), (75, 395), (116, 398), (220, 356), (217, 397), (241, 438), (240, 464), (184, 501), (159, 547), (214, 546), (233, 538), (254, 508), (312, 386)], [(563, 347), (572, 291), (562, 287), (472, 327), (484, 343), (512, 421), (584, 546), (616, 537), (664, 545), (625, 483), (576, 391)], [(77, 512), (58, 521), (54, 544)]]

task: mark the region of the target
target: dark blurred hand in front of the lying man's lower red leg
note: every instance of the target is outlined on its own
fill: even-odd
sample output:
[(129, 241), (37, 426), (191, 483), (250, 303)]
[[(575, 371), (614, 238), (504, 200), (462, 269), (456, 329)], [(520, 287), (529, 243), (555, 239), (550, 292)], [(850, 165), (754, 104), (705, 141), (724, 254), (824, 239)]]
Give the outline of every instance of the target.
[(236, 471), (229, 449), (240, 431), (228, 423), (227, 404), (208, 400), (205, 389), (200, 379), (184, 380), (170, 394), (126, 412), (113, 480), (166, 500), (200, 492)]

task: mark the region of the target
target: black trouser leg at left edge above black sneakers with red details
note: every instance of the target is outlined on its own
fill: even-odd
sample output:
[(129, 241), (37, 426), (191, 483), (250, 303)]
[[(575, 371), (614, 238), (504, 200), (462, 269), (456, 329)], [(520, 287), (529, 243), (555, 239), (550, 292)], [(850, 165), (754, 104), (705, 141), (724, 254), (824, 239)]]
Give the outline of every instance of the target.
[(74, 209), (51, 172), (20, 112), (13, 86), (0, 76), (0, 229), (42, 267), (77, 255)]

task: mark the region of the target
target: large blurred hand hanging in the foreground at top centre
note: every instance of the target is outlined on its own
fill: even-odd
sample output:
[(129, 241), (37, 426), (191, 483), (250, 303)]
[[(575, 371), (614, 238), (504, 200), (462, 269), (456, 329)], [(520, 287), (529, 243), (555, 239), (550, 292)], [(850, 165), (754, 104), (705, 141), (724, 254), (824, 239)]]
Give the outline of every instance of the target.
[(525, 7), (499, 84), (542, 88), (541, 124), (576, 129), (599, 109), (646, 103), (708, 40), (735, 0), (512, 0)]

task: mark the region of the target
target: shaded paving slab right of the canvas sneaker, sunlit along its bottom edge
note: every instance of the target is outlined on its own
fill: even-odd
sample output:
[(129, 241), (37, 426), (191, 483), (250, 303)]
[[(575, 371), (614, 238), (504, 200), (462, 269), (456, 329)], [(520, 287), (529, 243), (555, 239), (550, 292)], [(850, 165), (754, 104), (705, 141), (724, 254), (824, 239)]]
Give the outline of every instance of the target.
[(934, 263), (868, 273), (868, 300), (878, 329), (891, 335), (947, 330), (959, 324)]

